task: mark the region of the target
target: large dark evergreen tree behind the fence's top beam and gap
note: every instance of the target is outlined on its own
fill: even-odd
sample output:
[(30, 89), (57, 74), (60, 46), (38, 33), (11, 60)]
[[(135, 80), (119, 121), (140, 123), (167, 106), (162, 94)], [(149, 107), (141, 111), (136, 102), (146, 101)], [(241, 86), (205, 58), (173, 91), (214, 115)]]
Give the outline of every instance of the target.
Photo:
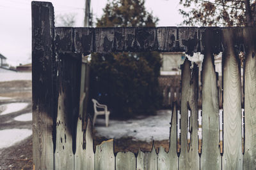
[[(144, 0), (108, 2), (97, 27), (154, 27), (157, 18), (145, 10)], [(108, 104), (111, 115), (154, 114), (161, 104), (158, 85), (161, 59), (157, 52), (92, 55), (91, 97)]]

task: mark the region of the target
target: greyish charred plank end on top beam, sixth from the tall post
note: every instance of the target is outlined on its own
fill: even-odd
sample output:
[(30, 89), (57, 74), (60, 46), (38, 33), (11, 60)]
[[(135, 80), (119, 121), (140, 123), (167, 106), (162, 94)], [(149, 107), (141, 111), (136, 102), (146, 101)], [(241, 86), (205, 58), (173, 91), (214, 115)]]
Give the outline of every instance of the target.
[(157, 27), (158, 49), (170, 52), (177, 49), (177, 27)]

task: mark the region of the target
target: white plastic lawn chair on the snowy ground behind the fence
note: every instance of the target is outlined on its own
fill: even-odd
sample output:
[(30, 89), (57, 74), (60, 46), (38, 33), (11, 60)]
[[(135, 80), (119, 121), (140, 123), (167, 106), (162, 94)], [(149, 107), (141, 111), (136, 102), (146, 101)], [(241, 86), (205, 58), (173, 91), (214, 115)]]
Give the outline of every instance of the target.
[[(95, 99), (92, 99), (92, 102), (93, 102), (93, 109), (94, 109), (93, 126), (95, 124), (97, 115), (105, 115), (106, 127), (108, 127), (109, 114), (110, 114), (110, 112), (108, 111), (108, 106), (104, 104), (99, 104), (99, 102), (96, 101)], [(98, 111), (97, 108), (102, 108), (104, 110)]]

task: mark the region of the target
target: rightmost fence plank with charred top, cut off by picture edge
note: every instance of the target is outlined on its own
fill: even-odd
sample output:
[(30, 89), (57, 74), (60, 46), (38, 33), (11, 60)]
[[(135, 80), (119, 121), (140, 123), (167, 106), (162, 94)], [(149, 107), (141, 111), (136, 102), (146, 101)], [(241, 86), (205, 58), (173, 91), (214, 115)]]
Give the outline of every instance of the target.
[(243, 168), (256, 169), (256, 30), (244, 28), (244, 160)]

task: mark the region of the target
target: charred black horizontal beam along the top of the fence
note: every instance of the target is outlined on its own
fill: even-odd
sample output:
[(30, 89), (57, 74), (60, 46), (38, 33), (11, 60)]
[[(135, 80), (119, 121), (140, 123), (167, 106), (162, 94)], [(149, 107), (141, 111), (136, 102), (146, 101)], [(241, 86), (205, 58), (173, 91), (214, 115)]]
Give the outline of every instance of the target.
[[(212, 53), (219, 53), (221, 32), (236, 32), (244, 28), (223, 27), (56, 27), (54, 44), (57, 53), (75, 52), (88, 55), (92, 52), (194, 52), (204, 53), (210, 43)], [(246, 28), (245, 28), (246, 29)], [(205, 39), (205, 32), (214, 36)], [(209, 33), (207, 33), (209, 34)], [(242, 41), (237, 41), (241, 46)]]

